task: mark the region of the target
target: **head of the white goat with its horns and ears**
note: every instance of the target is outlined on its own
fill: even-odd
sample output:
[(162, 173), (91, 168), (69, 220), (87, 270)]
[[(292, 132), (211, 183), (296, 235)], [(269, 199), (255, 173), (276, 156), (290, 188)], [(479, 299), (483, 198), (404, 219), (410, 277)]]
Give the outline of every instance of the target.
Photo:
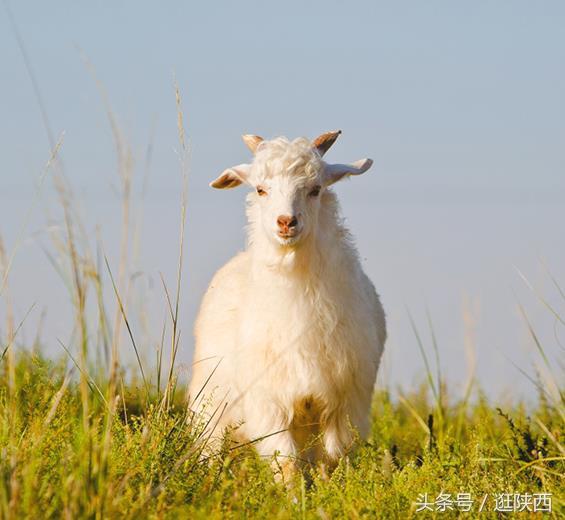
[(255, 154), (253, 162), (228, 168), (211, 186), (225, 189), (250, 185), (255, 190), (251, 202), (258, 209), (254, 224), (273, 243), (296, 246), (316, 229), (324, 190), (346, 176), (360, 175), (372, 164), (370, 159), (352, 165), (324, 162), (323, 154), (339, 133), (328, 132), (313, 142), (306, 138), (264, 141), (258, 136), (243, 136)]

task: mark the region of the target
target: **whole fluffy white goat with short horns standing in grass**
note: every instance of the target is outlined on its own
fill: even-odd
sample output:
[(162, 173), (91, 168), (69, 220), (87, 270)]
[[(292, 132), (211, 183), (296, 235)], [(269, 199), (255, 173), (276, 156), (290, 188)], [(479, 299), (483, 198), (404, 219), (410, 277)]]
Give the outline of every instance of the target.
[[(196, 321), (190, 395), (261, 455), (331, 464), (369, 428), (386, 339), (383, 308), (328, 189), (372, 164), (327, 164), (314, 142), (245, 135), (252, 164), (211, 186), (253, 187), (248, 245), (214, 276)], [(199, 399), (202, 402), (202, 398)], [(210, 404), (211, 401), (211, 404)], [(222, 412), (223, 409), (223, 412)], [(287, 469), (288, 468), (288, 469)]]

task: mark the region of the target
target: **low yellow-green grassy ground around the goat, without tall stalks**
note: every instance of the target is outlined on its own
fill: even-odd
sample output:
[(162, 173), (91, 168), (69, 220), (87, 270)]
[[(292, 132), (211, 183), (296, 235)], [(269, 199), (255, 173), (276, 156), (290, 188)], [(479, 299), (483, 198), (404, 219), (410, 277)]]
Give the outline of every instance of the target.
[(551, 516), (565, 513), (563, 410), (543, 398), (526, 412), (379, 391), (368, 442), (333, 474), (282, 485), (250, 446), (203, 456), (210, 425), (187, 413), (183, 389), (148, 398), (141, 381), (116, 391), (90, 377), (81, 388), (66, 367), (39, 353), (2, 367), (2, 518), (449, 518), (485, 500), (495, 518), (508, 493), (526, 510), (551, 493)]

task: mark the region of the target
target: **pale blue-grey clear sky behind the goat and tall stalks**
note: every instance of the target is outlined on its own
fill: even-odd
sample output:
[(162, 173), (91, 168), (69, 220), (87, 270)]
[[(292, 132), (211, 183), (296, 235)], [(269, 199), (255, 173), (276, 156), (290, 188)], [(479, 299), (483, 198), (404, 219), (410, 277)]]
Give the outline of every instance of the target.
[[(535, 347), (519, 305), (563, 374), (565, 330), (540, 300), (565, 314), (552, 282), (565, 286), (563, 2), (5, 2), (0, 236), (8, 252), (21, 241), (9, 280), (16, 318), (35, 304), (20, 341), (41, 323), (56, 356), (58, 339), (72, 343), (73, 320), (46, 254), (60, 212), (50, 176), (35, 195), (50, 144), (6, 5), (51, 131), (56, 140), (64, 132), (60, 157), (85, 235), (100, 235), (116, 270), (108, 105), (131, 147), (142, 225), (128, 265), (140, 286), (131, 305), (148, 309), (136, 323), (147, 363), (166, 316), (159, 273), (173, 287), (178, 255), (176, 82), (190, 150), (184, 366), (200, 298), (245, 243), (246, 189), (208, 183), (250, 159), (241, 134), (313, 138), (339, 128), (328, 160), (374, 160), (335, 190), (388, 317), (380, 383), (424, 381), (412, 317), (431, 358), (432, 323), (453, 395), (463, 391), (471, 345), (489, 396), (531, 398), (519, 369), (534, 374)], [(0, 323), (5, 312), (2, 304)]]

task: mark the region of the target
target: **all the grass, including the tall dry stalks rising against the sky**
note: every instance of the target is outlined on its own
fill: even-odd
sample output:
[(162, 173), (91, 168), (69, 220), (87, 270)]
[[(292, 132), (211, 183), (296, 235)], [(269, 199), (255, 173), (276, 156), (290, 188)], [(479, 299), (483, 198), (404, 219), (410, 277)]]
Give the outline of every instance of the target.
[[(532, 500), (534, 494), (549, 493), (553, 512), (546, 516), (565, 515), (565, 401), (556, 375), (562, 370), (552, 366), (523, 308), (541, 360), (536, 376), (523, 371), (538, 394), (534, 406), (497, 407), (481, 393), (472, 373), (464, 397), (452, 398), (439, 371), (431, 320), (435, 370), (411, 319), (425, 383), (409, 393), (377, 391), (369, 439), (359, 442), (333, 473), (310, 468), (282, 485), (270, 461), (260, 459), (252, 445), (234, 447), (226, 439), (221, 448), (204, 451), (214, 419), (206, 422), (191, 414), (176, 367), (188, 200), (179, 90), (183, 189), (177, 279), (171, 292), (162, 278), (169, 319), (151, 366), (146, 360), (144, 366), (129, 316), (134, 289), (128, 267), (135, 261), (129, 245), (141, 235), (139, 227), (134, 229), (141, 218), (134, 222), (131, 152), (103, 90), (102, 97), (118, 156), (122, 231), (117, 269), (101, 241), (92, 243), (84, 232), (73, 207), (59, 159), (61, 141), (55, 144), (51, 138), (52, 156), (38, 188), (52, 172), (61, 214), (48, 216), (60, 225), (50, 226), (46, 254), (74, 306), (71, 340), (60, 342), (65, 357), (46, 358), (41, 338), (30, 348), (18, 342), (30, 311), (16, 320), (9, 274), (27, 217), (10, 253), (0, 241), (0, 296), (6, 308), (0, 343), (0, 518), (449, 518), (460, 514), (449, 500), (459, 498), (462, 504), (468, 498), (462, 494), (473, 501), (470, 517), (486, 500), (481, 517), (498, 518), (497, 495), (508, 493)], [(561, 315), (549, 310), (561, 326)], [(128, 347), (135, 356), (131, 369), (122, 354)], [(436, 503), (434, 511), (419, 512), (422, 494), (430, 502), (443, 498), (447, 511), (436, 510)]]

